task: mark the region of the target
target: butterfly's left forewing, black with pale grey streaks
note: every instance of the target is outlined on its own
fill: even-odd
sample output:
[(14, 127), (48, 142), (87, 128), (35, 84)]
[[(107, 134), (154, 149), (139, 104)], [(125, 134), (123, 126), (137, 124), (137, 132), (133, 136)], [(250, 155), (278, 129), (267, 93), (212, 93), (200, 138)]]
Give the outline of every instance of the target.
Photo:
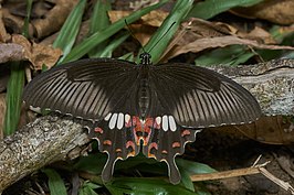
[(102, 120), (113, 110), (136, 116), (135, 97), (129, 97), (129, 93), (136, 90), (138, 76), (138, 66), (129, 62), (77, 61), (35, 77), (25, 87), (23, 100), (29, 106), (93, 121)]

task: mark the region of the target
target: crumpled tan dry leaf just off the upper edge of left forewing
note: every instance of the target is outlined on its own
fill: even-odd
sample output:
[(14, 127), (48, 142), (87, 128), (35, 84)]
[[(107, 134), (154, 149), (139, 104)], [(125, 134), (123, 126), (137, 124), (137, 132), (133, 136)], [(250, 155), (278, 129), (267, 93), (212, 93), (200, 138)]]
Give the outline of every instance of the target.
[(48, 68), (52, 67), (62, 54), (60, 48), (36, 43), (31, 44), (24, 36), (19, 34), (12, 35), (12, 42), (24, 47), (24, 56), (32, 63), (34, 69), (42, 69), (43, 65)]

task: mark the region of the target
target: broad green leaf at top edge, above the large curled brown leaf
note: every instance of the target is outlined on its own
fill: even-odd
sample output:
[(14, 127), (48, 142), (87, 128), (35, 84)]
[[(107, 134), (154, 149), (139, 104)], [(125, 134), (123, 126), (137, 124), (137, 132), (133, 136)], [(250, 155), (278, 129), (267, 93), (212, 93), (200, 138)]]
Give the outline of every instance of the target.
[(206, 0), (195, 4), (188, 18), (211, 19), (234, 7), (251, 7), (262, 1), (263, 0)]

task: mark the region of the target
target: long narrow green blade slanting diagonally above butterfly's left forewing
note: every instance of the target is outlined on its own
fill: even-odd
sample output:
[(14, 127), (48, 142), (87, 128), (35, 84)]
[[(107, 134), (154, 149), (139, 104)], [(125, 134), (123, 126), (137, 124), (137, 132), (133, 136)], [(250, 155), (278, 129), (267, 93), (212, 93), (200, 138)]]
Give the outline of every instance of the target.
[(70, 54), (65, 58), (63, 58), (62, 63), (78, 59), (80, 57), (82, 57), (83, 55), (88, 53), (91, 50), (93, 50), (96, 45), (104, 42), (105, 40), (107, 40), (108, 37), (114, 35), (115, 33), (117, 33), (119, 30), (122, 30), (125, 26), (125, 20), (128, 23), (135, 22), (136, 20), (140, 19), (141, 15), (147, 14), (151, 10), (155, 10), (155, 9), (164, 6), (167, 1), (168, 0), (161, 0), (157, 4), (154, 4), (154, 6), (150, 6), (148, 8), (144, 8), (139, 11), (136, 11), (136, 12), (132, 13), (130, 15), (118, 20), (114, 24), (106, 28), (104, 31), (94, 33), (90, 37), (85, 39), (82, 43), (76, 45), (70, 52)]

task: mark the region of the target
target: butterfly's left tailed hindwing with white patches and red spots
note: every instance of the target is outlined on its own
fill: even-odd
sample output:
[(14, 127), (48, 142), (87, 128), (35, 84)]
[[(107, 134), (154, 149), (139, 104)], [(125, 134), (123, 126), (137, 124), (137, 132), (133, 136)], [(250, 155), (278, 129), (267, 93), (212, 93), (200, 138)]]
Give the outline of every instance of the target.
[(140, 127), (139, 120), (128, 113), (108, 113), (104, 120), (94, 124), (90, 137), (98, 140), (99, 151), (108, 154), (102, 172), (103, 181), (112, 178), (117, 160), (126, 160), (139, 153), (139, 143), (136, 130)]

